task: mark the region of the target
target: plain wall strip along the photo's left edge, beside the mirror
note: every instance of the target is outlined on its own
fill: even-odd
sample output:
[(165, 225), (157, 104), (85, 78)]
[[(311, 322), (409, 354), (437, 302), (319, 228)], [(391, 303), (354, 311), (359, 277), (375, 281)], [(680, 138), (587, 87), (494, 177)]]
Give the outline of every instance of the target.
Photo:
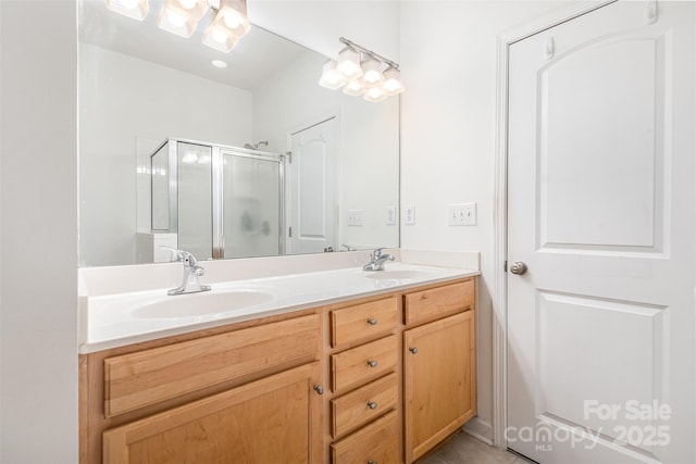
[(75, 463), (75, 7), (0, 11), (0, 462)]

